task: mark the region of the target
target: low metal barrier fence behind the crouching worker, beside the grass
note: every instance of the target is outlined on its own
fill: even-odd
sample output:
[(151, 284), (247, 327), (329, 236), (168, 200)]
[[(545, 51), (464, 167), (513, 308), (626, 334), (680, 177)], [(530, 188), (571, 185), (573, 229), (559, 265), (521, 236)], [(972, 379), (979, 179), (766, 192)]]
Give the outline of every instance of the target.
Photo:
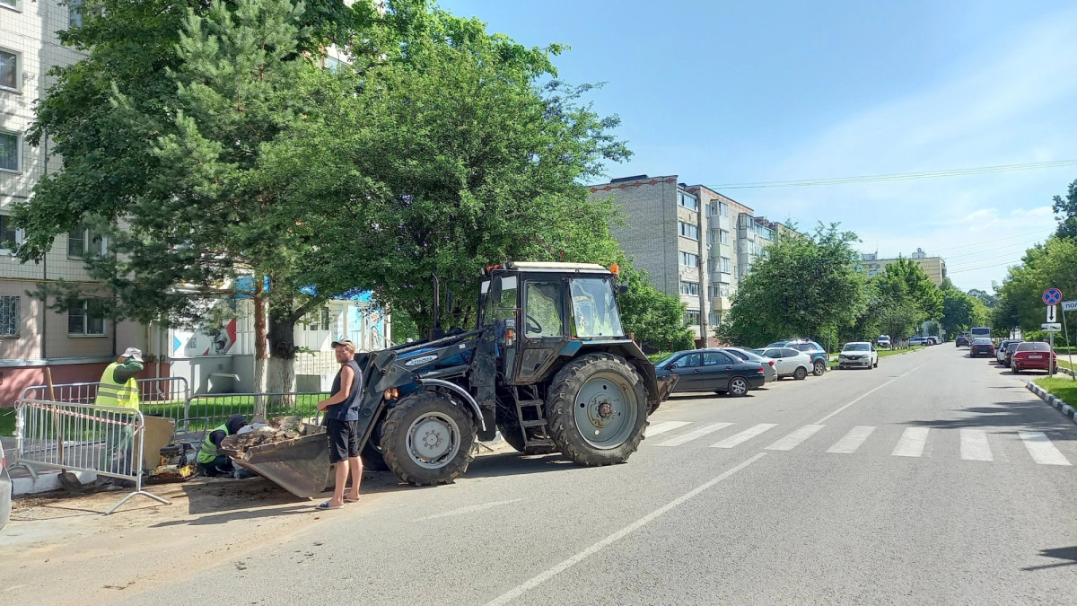
[(318, 402), (328, 397), (327, 391), (202, 394), (191, 397), (186, 417), (192, 422), (208, 418), (210, 427), (224, 423), (234, 414), (241, 414), (248, 421), (256, 414), (267, 419), (284, 415), (312, 417), (318, 413)]

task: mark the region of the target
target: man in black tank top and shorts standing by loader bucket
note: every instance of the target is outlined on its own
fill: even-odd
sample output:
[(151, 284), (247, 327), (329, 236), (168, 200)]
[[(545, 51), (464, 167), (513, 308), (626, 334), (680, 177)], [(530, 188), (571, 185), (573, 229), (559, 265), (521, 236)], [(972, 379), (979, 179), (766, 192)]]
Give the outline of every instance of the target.
[[(330, 462), (336, 464), (336, 490), (333, 498), (318, 509), (340, 509), (345, 502), (359, 500), (359, 484), (363, 480), (363, 462), (359, 458), (359, 407), (363, 399), (363, 371), (355, 361), (355, 344), (334, 341), (340, 372), (333, 380), (333, 395), (318, 402), (326, 419), (325, 433), (330, 442)], [(351, 492), (345, 496), (348, 474)]]

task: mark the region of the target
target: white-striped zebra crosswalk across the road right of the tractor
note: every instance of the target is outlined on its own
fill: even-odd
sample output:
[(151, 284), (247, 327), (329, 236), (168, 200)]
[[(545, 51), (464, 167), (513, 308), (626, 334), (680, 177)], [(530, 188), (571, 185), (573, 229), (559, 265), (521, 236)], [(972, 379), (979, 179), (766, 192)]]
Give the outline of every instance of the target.
[[(666, 421), (656, 423), (646, 429), (645, 436), (654, 438), (661, 433), (672, 432), (663, 437), (658, 442), (645, 442), (648, 446), (661, 446), (665, 449), (674, 446), (708, 446), (712, 449), (735, 449), (742, 444), (752, 442), (765, 433), (779, 436), (781, 425), (777, 423), (740, 424), (736, 423), (710, 423), (698, 424), (686, 421)], [(785, 435), (773, 440), (764, 446), (766, 451), (792, 451), (798, 446), (813, 440), (821, 440), (820, 436), (827, 426), (821, 424), (802, 425), (799, 427), (786, 428)], [(877, 431), (878, 426), (857, 425), (840, 439), (826, 449), (826, 454), (852, 455), (856, 454), (870, 440), (892, 440), (895, 431)], [(884, 437), (886, 435), (886, 437)], [(973, 462), (994, 462), (995, 453), (992, 452), (992, 441), (1009, 440), (997, 435), (989, 440), (989, 432), (984, 429), (971, 427), (961, 428), (959, 431), (950, 429), (936, 429), (931, 427), (906, 427), (893, 443), (884, 444), (890, 450), (891, 456), (919, 458), (923, 457), (928, 444), (941, 443), (953, 440), (956, 437), (962, 460)], [(1037, 465), (1071, 466), (1069, 459), (1051, 442), (1043, 431), (1018, 431), (1018, 438), (1024, 444), (1029, 456)], [(716, 442), (708, 443), (718, 438)], [(834, 437), (829, 438), (834, 439)], [(755, 442), (753, 442), (755, 443)], [(758, 442), (765, 443), (765, 442)], [(998, 447), (996, 445), (996, 447)], [(1003, 456), (1005, 460), (1005, 455)]]

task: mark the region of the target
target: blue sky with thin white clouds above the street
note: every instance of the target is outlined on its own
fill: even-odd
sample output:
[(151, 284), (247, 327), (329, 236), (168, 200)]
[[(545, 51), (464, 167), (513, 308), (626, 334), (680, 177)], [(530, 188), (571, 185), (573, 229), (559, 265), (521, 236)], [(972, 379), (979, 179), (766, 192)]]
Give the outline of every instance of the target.
[[(1077, 5), (1063, 1), (443, 0), (529, 45), (619, 114), (611, 177), (708, 185), (1077, 160)], [(1077, 166), (812, 188), (721, 189), (864, 251), (947, 259), (990, 290), (1053, 230)], [(1015, 237), (1017, 236), (1017, 237)], [(1068, 293), (1067, 293), (1068, 294)], [(1074, 293), (1077, 294), (1077, 293)]]

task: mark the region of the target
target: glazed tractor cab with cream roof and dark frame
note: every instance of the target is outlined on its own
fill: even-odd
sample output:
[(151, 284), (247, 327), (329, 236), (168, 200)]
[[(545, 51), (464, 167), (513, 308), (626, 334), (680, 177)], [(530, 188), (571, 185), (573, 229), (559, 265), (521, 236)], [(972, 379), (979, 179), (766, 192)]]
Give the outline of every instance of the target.
[(630, 343), (614, 292), (616, 274), (596, 263), (506, 263), (485, 273), (479, 329), (493, 326), (499, 370), (512, 383), (543, 380), (560, 356)]

